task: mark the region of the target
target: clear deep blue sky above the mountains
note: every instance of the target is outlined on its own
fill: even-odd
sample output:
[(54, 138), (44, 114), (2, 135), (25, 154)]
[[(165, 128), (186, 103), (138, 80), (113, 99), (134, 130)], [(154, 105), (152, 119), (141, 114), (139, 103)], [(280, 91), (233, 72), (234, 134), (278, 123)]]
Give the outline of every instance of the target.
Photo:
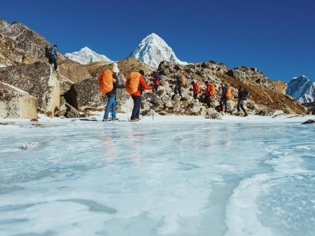
[(313, 0), (10, 0), (1, 2), (0, 18), (22, 22), (62, 53), (87, 46), (124, 59), (155, 32), (184, 61), (315, 81), (314, 9)]

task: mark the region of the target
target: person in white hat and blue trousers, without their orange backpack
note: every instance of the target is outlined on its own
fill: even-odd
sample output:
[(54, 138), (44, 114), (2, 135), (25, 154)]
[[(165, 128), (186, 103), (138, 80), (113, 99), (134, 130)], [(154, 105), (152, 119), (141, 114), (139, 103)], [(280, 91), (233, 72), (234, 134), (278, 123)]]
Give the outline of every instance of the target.
[[(113, 86), (114, 86), (113, 90), (106, 93), (108, 101), (107, 101), (107, 105), (105, 108), (103, 121), (118, 120), (118, 118), (116, 118), (116, 94), (117, 94), (116, 89), (124, 89), (125, 88), (125, 85), (119, 85), (119, 80), (118, 80), (118, 76), (117, 76), (119, 73), (119, 69), (118, 69), (116, 62), (113, 64), (112, 71), (113, 71), (113, 78), (116, 81), (113, 82)], [(109, 115), (111, 108), (112, 108), (112, 119), (109, 119), (108, 115)]]

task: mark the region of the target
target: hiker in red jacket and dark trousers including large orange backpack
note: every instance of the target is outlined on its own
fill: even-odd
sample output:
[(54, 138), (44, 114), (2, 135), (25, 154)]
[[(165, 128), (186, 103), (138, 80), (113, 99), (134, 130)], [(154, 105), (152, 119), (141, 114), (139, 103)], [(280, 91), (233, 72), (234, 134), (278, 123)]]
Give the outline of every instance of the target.
[(153, 89), (152, 86), (147, 86), (144, 80), (144, 71), (131, 72), (126, 81), (126, 91), (131, 95), (133, 100), (132, 115), (130, 117), (131, 122), (139, 121), (140, 105), (142, 100), (142, 91)]

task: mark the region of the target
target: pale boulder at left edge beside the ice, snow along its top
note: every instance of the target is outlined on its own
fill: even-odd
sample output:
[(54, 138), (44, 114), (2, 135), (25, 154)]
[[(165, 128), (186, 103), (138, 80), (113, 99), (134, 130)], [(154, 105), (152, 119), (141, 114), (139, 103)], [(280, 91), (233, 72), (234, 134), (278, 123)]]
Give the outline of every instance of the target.
[(36, 98), (0, 82), (0, 118), (37, 119)]

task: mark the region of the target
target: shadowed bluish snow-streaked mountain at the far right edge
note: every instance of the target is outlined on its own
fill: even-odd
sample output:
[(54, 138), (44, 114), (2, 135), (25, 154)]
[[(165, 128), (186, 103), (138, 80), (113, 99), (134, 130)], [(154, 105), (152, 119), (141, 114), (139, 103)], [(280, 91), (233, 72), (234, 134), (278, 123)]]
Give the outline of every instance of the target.
[(311, 82), (306, 76), (300, 75), (290, 80), (285, 92), (299, 103), (314, 102), (315, 82)]

